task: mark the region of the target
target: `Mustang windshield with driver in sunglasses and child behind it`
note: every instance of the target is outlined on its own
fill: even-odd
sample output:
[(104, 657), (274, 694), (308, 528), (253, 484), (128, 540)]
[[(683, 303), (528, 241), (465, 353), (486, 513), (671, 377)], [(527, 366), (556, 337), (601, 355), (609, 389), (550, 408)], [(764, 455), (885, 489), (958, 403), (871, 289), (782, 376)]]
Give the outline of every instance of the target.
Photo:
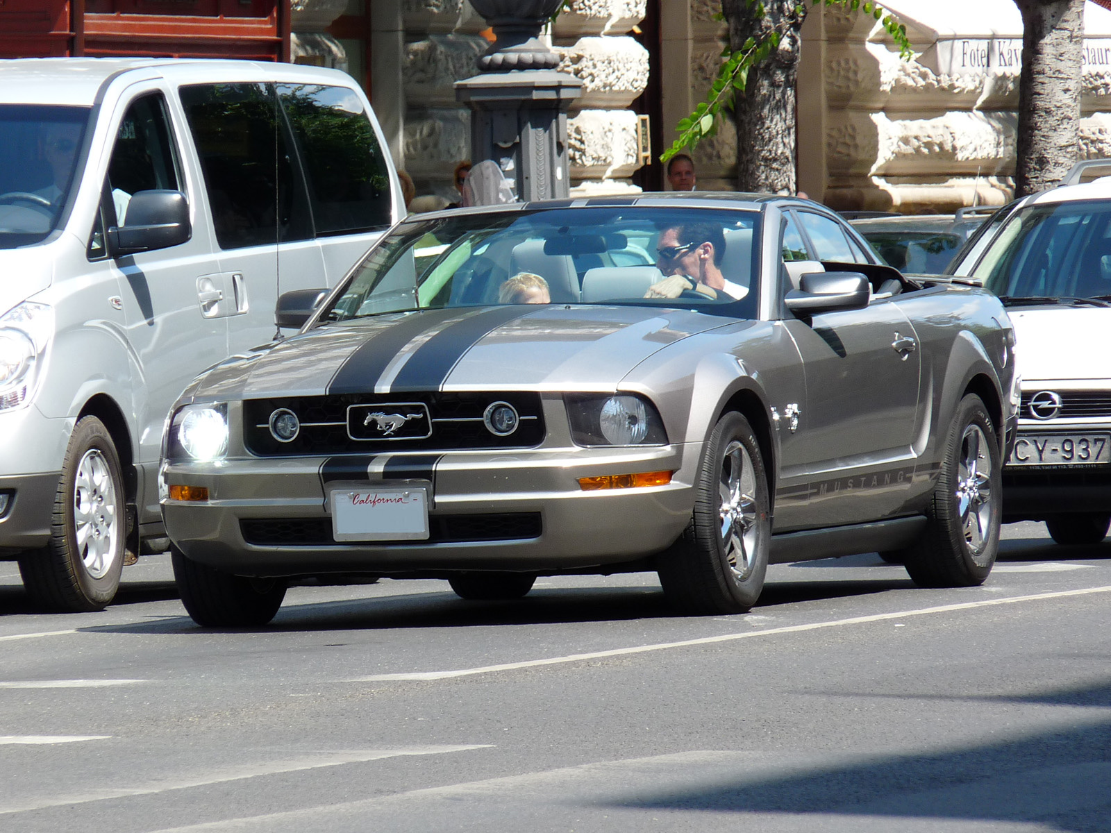
[(759, 218), (620, 207), (411, 219), (371, 250), (320, 320), (508, 303), (680, 305), (751, 318)]

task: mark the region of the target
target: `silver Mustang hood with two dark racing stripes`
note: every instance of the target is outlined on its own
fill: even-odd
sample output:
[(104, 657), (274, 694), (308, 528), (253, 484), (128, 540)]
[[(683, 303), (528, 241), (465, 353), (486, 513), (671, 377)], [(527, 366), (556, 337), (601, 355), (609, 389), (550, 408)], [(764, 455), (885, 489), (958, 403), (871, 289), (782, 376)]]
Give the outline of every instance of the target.
[(613, 390), (637, 364), (733, 319), (642, 307), (422, 310), (329, 324), (214, 368), (204, 399), (436, 390)]

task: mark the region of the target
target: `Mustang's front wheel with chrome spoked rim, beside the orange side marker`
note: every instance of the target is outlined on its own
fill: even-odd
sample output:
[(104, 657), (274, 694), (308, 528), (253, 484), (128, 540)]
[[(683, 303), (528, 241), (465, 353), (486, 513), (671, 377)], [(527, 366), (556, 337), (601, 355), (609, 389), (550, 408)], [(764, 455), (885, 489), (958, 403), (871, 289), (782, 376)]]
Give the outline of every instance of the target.
[(727, 413), (707, 441), (694, 511), (659, 558), (660, 584), (685, 613), (744, 613), (768, 571), (771, 506), (760, 443), (744, 416)]

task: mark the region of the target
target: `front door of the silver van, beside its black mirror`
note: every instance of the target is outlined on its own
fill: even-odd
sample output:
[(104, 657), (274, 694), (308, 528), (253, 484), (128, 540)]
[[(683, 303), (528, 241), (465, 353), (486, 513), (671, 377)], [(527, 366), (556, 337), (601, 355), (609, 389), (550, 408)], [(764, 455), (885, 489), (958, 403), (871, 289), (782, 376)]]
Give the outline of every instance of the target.
[(228, 329), (220, 314), (222, 302), (207, 294), (217, 271), (211, 232), (196, 210), (201, 185), (182, 164), (183, 126), (174, 123), (166, 90), (160, 82), (130, 88), (112, 118), (116, 140), (101, 200), (104, 225), (126, 218), (137, 191), (182, 191), (193, 205), (192, 237), (181, 245), (107, 258), (94, 234), (90, 247), (90, 255), (104, 252), (107, 268), (118, 278), (126, 337), (138, 364), (131, 407), (138, 431), (136, 465), (147, 470), (140, 520), (149, 520), (159, 516), (154, 471), (166, 414), (193, 377), (227, 355)]

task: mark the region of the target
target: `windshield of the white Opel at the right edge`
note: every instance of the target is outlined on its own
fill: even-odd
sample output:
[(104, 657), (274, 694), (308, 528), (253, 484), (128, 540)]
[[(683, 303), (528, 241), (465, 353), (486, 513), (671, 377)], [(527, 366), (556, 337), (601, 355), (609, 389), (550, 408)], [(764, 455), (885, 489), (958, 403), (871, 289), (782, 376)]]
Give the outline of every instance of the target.
[(972, 277), (1004, 300), (1111, 299), (1111, 201), (1021, 209)]

